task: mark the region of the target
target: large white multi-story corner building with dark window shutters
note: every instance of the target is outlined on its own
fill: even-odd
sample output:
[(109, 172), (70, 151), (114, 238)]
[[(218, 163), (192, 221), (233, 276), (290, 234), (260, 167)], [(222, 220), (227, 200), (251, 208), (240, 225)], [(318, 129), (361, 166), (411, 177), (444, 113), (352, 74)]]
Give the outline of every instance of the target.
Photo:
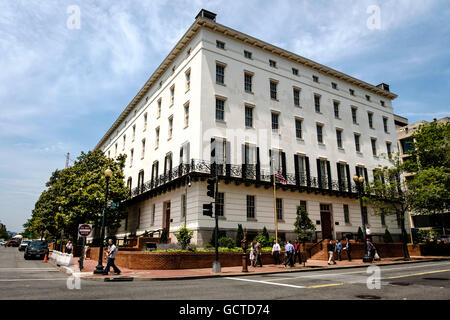
[[(202, 213), (211, 163), (220, 169), (220, 229), (233, 236), (265, 226), (273, 234), (272, 167), (280, 236), (293, 238), (296, 207), (306, 206), (317, 238), (355, 234), (362, 225), (352, 177), (373, 179), (383, 154), (397, 151), (389, 86), (373, 86), (215, 21), (200, 11), (142, 89), (97, 144), (127, 155), (131, 190), (119, 235), (184, 223), (209, 241)], [(214, 158), (211, 156), (215, 150)], [(395, 216), (365, 208), (373, 235)], [(171, 237), (175, 240), (175, 237)]]

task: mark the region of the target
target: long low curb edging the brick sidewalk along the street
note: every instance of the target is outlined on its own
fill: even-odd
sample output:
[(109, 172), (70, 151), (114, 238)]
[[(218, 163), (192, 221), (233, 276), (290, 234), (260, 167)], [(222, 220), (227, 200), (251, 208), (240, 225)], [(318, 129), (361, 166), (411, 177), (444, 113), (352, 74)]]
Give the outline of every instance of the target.
[[(367, 265), (381, 265), (381, 266), (392, 266), (400, 264), (411, 264), (411, 263), (423, 263), (423, 262), (433, 262), (433, 261), (450, 261), (450, 258), (430, 258), (415, 261), (398, 261), (392, 263), (381, 263), (381, 264), (367, 264)], [(83, 280), (89, 281), (111, 281), (111, 279), (120, 279), (121, 277), (133, 277), (133, 281), (173, 281), (173, 280), (197, 280), (197, 279), (208, 279), (208, 278), (224, 278), (224, 277), (239, 277), (239, 276), (258, 276), (266, 274), (279, 274), (279, 273), (297, 273), (297, 272), (312, 272), (312, 271), (326, 271), (326, 270), (342, 270), (342, 269), (356, 269), (362, 268), (366, 265), (356, 265), (356, 266), (341, 266), (341, 267), (310, 267), (309, 269), (287, 269), (280, 271), (270, 271), (270, 272), (256, 272), (256, 273), (232, 273), (232, 274), (207, 274), (198, 276), (179, 276), (170, 278), (151, 278), (151, 277), (140, 277), (140, 276), (118, 276), (118, 277), (80, 277)], [(108, 280), (106, 280), (108, 279)]]

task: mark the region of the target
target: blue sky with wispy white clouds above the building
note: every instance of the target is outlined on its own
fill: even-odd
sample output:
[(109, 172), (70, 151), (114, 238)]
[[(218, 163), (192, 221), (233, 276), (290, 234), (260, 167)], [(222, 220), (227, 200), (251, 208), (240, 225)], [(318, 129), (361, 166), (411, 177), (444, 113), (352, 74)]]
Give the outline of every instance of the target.
[[(80, 8), (69, 29), (68, 6)], [(380, 8), (369, 29), (367, 8)], [(21, 231), (70, 152), (92, 149), (201, 8), (399, 95), (410, 123), (450, 115), (450, 5), (428, 1), (0, 2), (0, 220)], [(71, 161), (72, 162), (72, 161)]]

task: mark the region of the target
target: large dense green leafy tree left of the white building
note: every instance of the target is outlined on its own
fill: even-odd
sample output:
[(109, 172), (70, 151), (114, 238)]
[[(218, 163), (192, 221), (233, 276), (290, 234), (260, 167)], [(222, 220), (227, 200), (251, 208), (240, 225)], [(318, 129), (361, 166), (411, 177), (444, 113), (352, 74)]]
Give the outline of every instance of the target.
[[(82, 152), (74, 165), (55, 170), (46, 183), (32, 211), (32, 217), (24, 224), (25, 234), (47, 231), (57, 237), (61, 230), (76, 239), (78, 225), (91, 223), (99, 230), (105, 202), (106, 177), (110, 168), (113, 176), (109, 180), (108, 201), (122, 202), (128, 199), (129, 190), (124, 184), (123, 168), (126, 156), (116, 160), (107, 158), (101, 150)], [(108, 230), (120, 226), (125, 217), (122, 206), (108, 209), (105, 225)]]

